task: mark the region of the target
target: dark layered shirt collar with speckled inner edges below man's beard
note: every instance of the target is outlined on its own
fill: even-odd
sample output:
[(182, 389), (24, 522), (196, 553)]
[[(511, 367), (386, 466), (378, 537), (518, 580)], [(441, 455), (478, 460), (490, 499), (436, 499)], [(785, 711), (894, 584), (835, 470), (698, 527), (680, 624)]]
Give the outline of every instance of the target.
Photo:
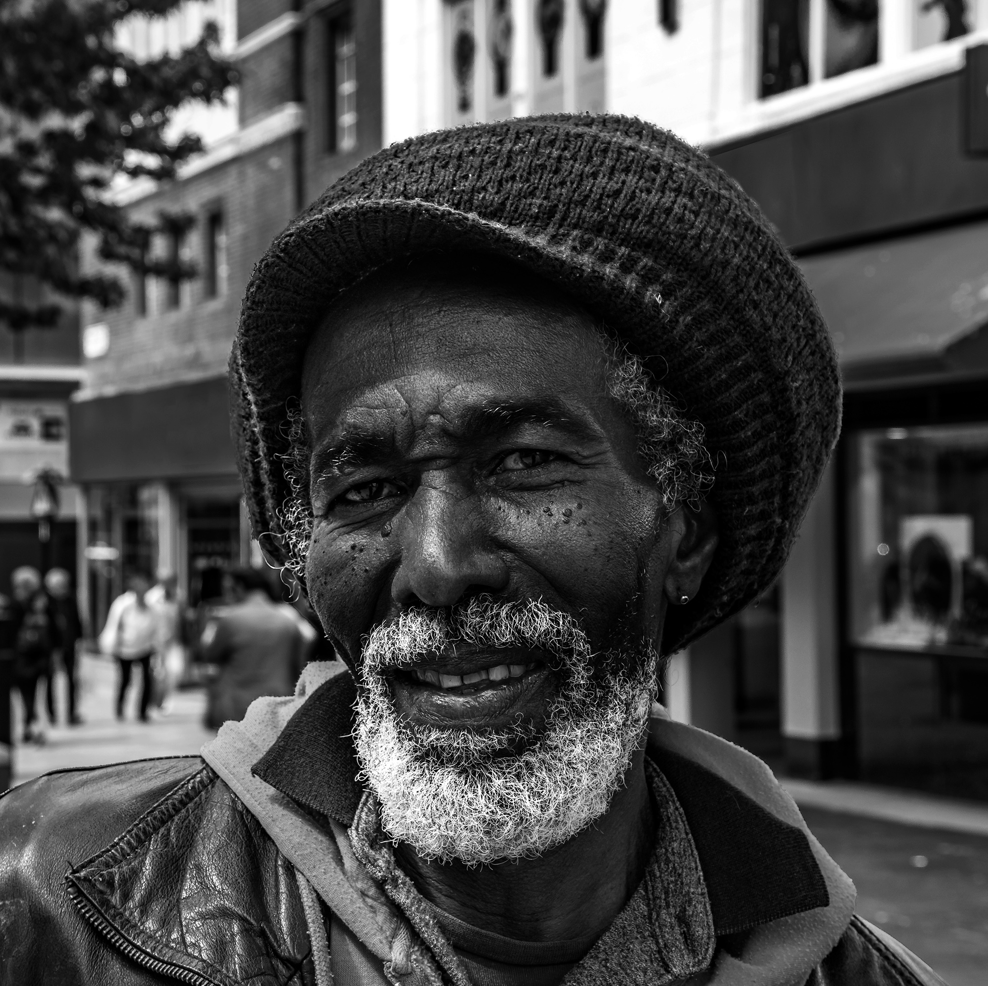
[[(394, 863), (374, 799), (358, 781), (350, 737), (355, 698), (350, 674), (342, 669), (333, 674), (297, 707), (252, 764), (251, 774), (314, 819), (348, 830), (356, 857), (408, 921), (415, 939), (428, 945), (447, 977), (456, 981), (453, 949), (430, 924), (428, 908)], [(735, 770), (735, 782), (728, 781), (717, 753), (729, 745), (709, 737), (715, 749), (700, 744), (699, 755), (696, 749), (678, 749), (682, 744), (670, 742), (678, 728), (688, 729), (655, 720), (650, 730), (646, 763), (659, 812), (656, 849), (645, 879), (608, 932), (571, 970), (567, 983), (659, 984), (689, 978), (710, 965), (718, 939), (729, 946), (732, 938), (743, 939), (754, 929), (831, 903), (828, 881), (794, 806), (794, 817), (784, 818), (791, 802), (773, 810), (781, 800), (774, 780), (775, 804), (760, 803), (744, 789), (753, 781), (755, 787), (765, 786), (759, 774), (768, 774), (764, 765), (748, 758), (742, 766), (750, 776), (739, 785)], [(690, 737), (696, 740), (698, 732), (690, 730)]]

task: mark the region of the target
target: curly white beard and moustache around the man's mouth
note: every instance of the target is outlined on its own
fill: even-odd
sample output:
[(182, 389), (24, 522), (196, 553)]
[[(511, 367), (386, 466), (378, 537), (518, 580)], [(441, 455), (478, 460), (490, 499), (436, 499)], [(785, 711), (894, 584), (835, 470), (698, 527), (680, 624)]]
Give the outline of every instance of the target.
[[(564, 663), (540, 735), (399, 722), (384, 673), (457, 641), (540, 648)], [(594, 682), (600, 659), (636, 670)], [(374, 628), (354, 740), (382, 828), (426, 859), (469, 864), (534, 857), (566, 842), (608, 810), (623, 782), (655, 693), (656, 663), (650, 649), (636, 660), (595, 655), (576, 620), (541, 601), (481, 598), (452, 613), (413, 610)]]

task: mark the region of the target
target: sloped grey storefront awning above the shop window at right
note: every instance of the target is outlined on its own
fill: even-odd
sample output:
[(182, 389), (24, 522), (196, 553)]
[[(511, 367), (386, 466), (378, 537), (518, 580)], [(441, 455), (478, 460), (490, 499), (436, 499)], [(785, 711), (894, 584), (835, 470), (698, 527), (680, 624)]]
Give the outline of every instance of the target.
[(799, 261), (845, 381), (988, 370), (988, 222)]

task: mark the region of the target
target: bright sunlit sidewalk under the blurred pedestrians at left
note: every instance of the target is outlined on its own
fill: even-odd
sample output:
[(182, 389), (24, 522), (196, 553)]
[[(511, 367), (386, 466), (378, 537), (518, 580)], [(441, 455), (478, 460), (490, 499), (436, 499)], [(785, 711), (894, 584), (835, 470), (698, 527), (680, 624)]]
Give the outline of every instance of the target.
[[(203, 726), (206, 696), (201, 691), (178, 692), (167, 715), (152, 713), (150, 722), (136, 715), (131, 685), (124, 722), (114, 714), (117, 665), (108, 658), (84, 654), (80, 661), (80, 726), (52, 726), (47, 741), (18, 744), (14, 748), (14, 783), (29, 781), (48, 771), (66, 767), (94, 767), (123, 760), (199, 753), (214, 734)], [(139, 679), (139, 671), (134, 676)], [(56, 679), (57, 697), (63, 704), (64, 680)], [(40, 703), (41, 704), (41, 703)], [(14, 702), (15, 735), (22, 735), (20, 700)]]

